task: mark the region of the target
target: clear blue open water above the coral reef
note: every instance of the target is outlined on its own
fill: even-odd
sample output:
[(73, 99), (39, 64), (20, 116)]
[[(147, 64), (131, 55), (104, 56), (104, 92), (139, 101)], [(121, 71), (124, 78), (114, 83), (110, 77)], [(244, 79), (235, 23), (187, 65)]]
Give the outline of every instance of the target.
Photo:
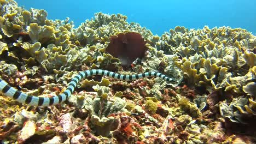
[(65, 20), (68, 16), (75, 27), (94, 13), (123, 14), (127, 21), (137, 22), (154, 34), (161, 35), (170, 28), (241, 27), (256, 34), (255, 0), (129, 0), (129, 1), (61, 1), (16, 0), (26, 9), (45, 9), (48, 19)]

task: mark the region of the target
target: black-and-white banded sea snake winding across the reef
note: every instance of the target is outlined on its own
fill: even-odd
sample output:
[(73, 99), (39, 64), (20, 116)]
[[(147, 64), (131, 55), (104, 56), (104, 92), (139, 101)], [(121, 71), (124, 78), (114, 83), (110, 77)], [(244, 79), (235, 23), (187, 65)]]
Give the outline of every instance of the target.
[(28, 105), (33, 105), (33, 106), (56, 105), (56, 104), (62, 103), (63, 101), (65, 101), (70, 97), (70, 95), (74, 92), (74, 89), (80, 80), (93, 75), (108, 76), (108, 77), (113, 77), (114, 79), (119, 79), (124, 81), (137, 80), (137, 79), (141, 79), (142, 77), (161, 77), (161, 79), (164, 79), (165, 81), (172, 81), (170, 77), (167, 77), (164, 74), (161, 74), (155, 71), (146, 72), (142, 74), (135, 74), (135, 75), (122, 75), (122, 74), (114, 73), (108, 70), (91, 69), (91, 70), (80, 71), (77, 75), (75, 75), (72, 78), (71, 82), (68, 83), (68, 87), (63, 93), (51, 98), (36, 97), (36, 96), (28, 95), (26, 93), (18, 91), (14, 87), (9, 86), (8, 83), (2, 79), (0, 79), (0, 91), (5, 96), (11, 99), (14, 99), (16, 101), (19, 101), (20, 103), (26, 103)]

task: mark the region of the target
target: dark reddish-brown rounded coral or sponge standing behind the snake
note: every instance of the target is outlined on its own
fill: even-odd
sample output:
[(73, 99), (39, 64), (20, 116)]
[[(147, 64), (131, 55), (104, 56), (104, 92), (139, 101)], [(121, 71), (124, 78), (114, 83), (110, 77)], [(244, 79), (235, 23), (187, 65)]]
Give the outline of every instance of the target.
[(124, 67), (129, 67), (136, 58), (145, 56), (148, 47), (142, 35), (136, 32), (119, 33), (112, 35), (106, 52), (117, 57)]

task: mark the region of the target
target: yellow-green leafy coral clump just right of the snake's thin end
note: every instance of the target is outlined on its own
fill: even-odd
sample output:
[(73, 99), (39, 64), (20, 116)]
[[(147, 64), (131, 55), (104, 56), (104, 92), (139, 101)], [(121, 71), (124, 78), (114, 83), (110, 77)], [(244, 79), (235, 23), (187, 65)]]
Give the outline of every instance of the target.
[(204, 86), (209, 92), (221, 88), (225, 88), (225, 91), (241, 92), (242, 83), (245, 80), (242, 80), (241, 76), (234, 77), (229, 72), (229, 68), (223, 67), (218, 59), (214, 57), (211, 59), (202, 58), (199, 62), (191, 63), (191, 61), (184, 58), (184, 61), (181, 70), (188, 86)]

